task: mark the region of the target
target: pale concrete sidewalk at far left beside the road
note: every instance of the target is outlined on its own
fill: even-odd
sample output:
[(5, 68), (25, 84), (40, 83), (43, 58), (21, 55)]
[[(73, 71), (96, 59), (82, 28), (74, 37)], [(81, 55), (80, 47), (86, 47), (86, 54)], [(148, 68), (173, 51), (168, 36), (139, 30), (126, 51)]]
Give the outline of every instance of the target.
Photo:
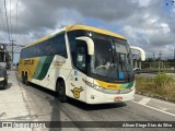
[(18, 117), (27, 116), (24, 91), (20, 87), (15, 72), (9, 72), (8, 87), (0, 90), (0, 120), (18, 120)]

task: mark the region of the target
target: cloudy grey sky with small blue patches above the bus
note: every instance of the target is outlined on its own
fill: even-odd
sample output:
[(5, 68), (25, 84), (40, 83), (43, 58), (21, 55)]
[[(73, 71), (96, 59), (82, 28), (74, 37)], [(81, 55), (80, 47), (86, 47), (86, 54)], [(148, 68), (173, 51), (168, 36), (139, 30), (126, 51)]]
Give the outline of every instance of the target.
[[(175, 3), (172, 0), (5, 1), (11, 39), (19, 45), (27, 45), (66, 25), (84, 24), (124, 35), (129, 45), (143, 48), (147, 57), (153, 53), (159, 57), (160, 51), (162, 58), (174, 57)], [(8, 44), (4, 0), (0, 0), (0, 43)], [(15, 55), (14, 62), (18, 60)]]

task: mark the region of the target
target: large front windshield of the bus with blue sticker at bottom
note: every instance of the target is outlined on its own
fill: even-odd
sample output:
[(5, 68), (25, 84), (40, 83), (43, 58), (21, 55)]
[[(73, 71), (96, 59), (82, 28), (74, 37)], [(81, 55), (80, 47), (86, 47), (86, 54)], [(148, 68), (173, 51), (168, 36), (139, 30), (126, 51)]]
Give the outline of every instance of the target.
[(114, 80), (129, 80), (133, 76), (131, 52), (127, 41), (115, 38), (93, 40), (95, 55), (91, 59), (92, 73)]

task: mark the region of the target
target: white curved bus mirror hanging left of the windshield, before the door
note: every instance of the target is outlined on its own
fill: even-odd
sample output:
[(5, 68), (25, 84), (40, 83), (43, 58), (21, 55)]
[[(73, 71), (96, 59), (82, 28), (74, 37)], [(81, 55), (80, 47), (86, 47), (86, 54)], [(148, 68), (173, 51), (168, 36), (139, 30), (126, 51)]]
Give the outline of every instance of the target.
[(88, 53), (91, 56), (94, 55), (94, 41), (90, 37), (81, 36), (81, 37), (77, 37), (75, 39), (85, 41), (88, 45)]

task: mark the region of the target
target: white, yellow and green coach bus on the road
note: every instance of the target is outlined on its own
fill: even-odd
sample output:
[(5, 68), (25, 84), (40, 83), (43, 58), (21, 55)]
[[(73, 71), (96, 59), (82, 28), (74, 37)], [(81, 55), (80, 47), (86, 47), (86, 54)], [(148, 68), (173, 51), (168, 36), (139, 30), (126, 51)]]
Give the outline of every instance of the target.
[(116, 33), (86, 25), (70, 25), (22, 48), (19, 78), (86, 104), (133, 99), (131, 48)]

